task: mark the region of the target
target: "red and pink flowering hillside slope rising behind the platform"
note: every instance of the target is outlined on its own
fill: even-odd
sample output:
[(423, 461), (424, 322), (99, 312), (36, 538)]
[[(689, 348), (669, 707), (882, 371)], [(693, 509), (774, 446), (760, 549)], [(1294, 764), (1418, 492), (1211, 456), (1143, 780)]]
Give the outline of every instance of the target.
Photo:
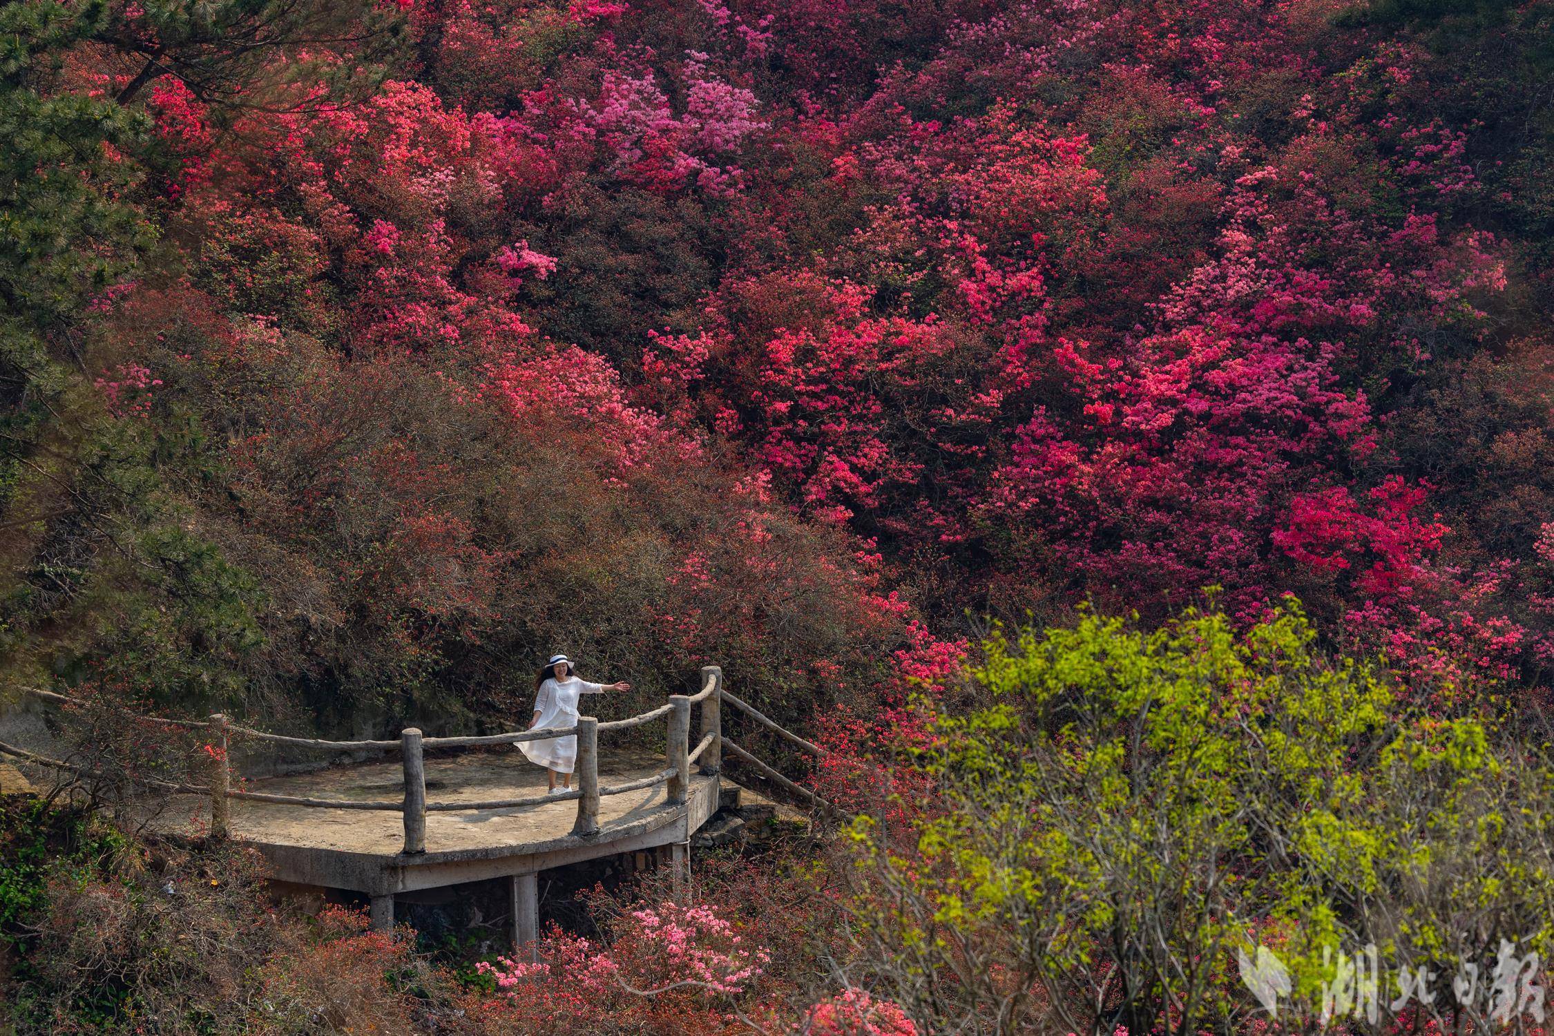
[(5, 17), (14, 682), (803, 719), (1206, 587), (1543, 679), (1545, 3)]

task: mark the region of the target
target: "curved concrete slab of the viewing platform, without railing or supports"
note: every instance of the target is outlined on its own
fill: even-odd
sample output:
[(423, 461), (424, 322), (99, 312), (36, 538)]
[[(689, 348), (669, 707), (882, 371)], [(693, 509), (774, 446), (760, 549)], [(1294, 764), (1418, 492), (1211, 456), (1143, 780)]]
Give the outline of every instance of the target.
[[(611, 783), (645, 778), (664, 767), (664, 756), (643, 752), (601, 752), (600, 778)], [(353, 801), (404, 794), (398, 761), (336, 767), (317, 774), (246, 781), (246, 791)], [(427, 798), (493, 801), (545, 791), (545, 770), (519, 752), (496, 750), (426, 760)], [(718, 775), (692, 772), (684, 805), (670, 805), (659, 783), (600, 800), (598, 833), (572, 834), (577, 803), (561, 800), (511, 809), (430, 812), (426, 851), (402, 851), (404, 828), (396, 812), (325, 809), (263, 801), (232, 801), (230, 837), (252, 845), (270, 874), (284, 882), (347, 888), (371, 898), (437, 885), (535, 874), (615, 853), (684, 845), (718, 809)], [(196, 795), (163, 800), (151, 829), (196, 834), (207, 803)], [(676, 854), (679, 854), (676, 853)]]

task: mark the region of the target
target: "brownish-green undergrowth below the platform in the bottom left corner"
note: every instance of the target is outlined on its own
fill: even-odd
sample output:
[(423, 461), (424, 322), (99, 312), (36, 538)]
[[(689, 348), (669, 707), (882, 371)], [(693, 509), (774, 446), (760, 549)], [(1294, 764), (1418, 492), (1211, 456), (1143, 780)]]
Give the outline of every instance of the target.
[(20, 1033), (409, 1033), (462, 988), (339, 907), (270, 904), (258, 860), (140, 840), (90, 809), (3, 800), (0, 965)]

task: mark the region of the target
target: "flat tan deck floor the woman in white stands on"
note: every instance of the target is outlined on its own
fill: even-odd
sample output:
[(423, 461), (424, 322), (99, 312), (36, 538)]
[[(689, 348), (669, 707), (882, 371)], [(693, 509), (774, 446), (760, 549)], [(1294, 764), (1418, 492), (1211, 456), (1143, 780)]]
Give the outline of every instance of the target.
[[(662, 755), (645, 752), (601, 752), (603, 786), (622, 784), (648, 777), (665, 767)], [(701, 777), (692, 769), (692, 794), (716, 778)], [(404, 794), (398, 760), (342, 766), (317, 774), (272, 777), (246, 781), (246, 791), (306, 798), (350, 798), (357, 801), (395, 801)], [(465, 752), (446, 758), (426, 760), (426, 800), (491, 801), (519, 798), (545, 791), (545, 770), (521, 753), (497, 749)], [(620, 795), (603, 795), (598, 823), (603, 840), (612, 828), (662, 819), (668, 823), (679, 809), (667, 808), (665, 784)], [(193, 834), (210, 817), (208, 805), (194, 795), (172, 795), (159, 809), (149, 826), (168, 833)], [(522, 851), (527, 845), (544, 845), (564, 839), (577, 819), (577, 800), (521, 806), (514, 809), (482, 809), (426, 814), (427, 857), (471, 850)], [(232, 800), (232, 836), (256, 845), (311, 850), (333, 850), (375, 856), (395, 856), (404, 845), (399, 812), (371, 809), (323, 809)]]

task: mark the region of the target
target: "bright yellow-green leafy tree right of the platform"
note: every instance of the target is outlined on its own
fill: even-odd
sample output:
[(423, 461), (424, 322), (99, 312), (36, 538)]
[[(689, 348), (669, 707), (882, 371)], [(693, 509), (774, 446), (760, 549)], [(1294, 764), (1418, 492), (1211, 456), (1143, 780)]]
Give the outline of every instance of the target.
[(1461, 963), (1489, 974), (1501, 940), (1546, 958), (1548, 767), (1483, 719), (1399, 714), (1293, 601), (1245, 632), (1083, 614), (984, 648), (977, 705), (915, 763), (939, 794), (911, 834), (853, 829), (862, 957), (932, 1031), (1235, 1028), (1259, 944), (1284, 1024), (1316, 1025), (1369, 944), (1375, 1025), (1420, 966), (1434, 1011), (1486, 1022), (1483, 988), (1455, 1002)]

